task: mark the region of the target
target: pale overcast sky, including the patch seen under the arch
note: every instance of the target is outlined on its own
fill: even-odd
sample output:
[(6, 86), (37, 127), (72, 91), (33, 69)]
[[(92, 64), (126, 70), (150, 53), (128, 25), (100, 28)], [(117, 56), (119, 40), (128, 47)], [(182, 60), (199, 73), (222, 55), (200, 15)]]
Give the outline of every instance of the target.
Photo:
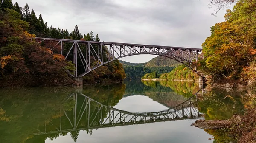
[[(212, 16), (209, 0), (16, 0), (29, 4), (48, 26), (82, 34), (93, 31), (105, 42), (126, 42), (201, 48), (210, 27), (224, 21), (225, 11)], [(15, 0), (13, 0), (15, 3)], [(147, 62), (155, 56), (122, 58)]]

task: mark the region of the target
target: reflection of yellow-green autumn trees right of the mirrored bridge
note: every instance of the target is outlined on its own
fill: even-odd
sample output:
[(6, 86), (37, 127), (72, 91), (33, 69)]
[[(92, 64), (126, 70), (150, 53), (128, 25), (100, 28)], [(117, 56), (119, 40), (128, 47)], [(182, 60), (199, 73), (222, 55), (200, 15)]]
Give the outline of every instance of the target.
[(228, 119), (233, 116), (233, 113), (241, 115), (244, 112), (245, 99), (241, 95), (244, 93), (213, 89), (199, 100), (198, 108), (200, 112), (207, 114), (205, 116), (207, 120)]

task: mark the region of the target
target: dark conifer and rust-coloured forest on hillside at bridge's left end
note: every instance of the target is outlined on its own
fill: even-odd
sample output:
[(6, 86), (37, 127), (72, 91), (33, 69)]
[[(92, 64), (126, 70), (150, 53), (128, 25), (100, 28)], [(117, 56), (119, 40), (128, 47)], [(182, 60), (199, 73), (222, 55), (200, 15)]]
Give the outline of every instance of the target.
[[(24, 8), (12, 0), (0, 0), (0, 87), (75, 84), (65, 69), (74, 70), (72, 62), (62, 62), (58, 52), (47, 50), (33, 37), (100, 41), (93, 32), (81, 34), (76, 25), (69, 31), (48, 26), (42, 15), (37, 18), (29, 5)], [(83, 49), (82, 49), (83, 50)], [(125, 73), (118, 60), (105, 64), (84, 76), (84, 82), (122, 81)]]

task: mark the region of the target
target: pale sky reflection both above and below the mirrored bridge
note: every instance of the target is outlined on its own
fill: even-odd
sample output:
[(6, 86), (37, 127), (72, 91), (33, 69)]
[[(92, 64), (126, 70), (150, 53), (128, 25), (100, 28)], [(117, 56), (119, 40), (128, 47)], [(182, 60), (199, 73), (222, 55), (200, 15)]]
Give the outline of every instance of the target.
[[(168, 109), (147, 96), (122, 98), (114, 107), (129, 112), (155, 112)], [(212, 143), (203, 129), (190, 126), (196, 119), (148, 123), (93, 129), (93, 134), (80, 131), (76, 143)], [(47, 139), (45, 143), (52, 143)], [(70, 134), (58, 137), (53, 143), (74, 143)]]

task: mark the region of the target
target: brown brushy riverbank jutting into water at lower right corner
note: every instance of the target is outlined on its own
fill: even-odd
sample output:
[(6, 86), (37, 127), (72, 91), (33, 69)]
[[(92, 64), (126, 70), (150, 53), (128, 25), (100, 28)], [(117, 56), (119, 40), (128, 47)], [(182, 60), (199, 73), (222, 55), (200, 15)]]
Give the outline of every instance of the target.
[(238, 143), (256, 143), (256, 109), (248, 110), (243, 116), (234, 115), (228, 120), (197, 120), (192, 126), (222, 132)]

